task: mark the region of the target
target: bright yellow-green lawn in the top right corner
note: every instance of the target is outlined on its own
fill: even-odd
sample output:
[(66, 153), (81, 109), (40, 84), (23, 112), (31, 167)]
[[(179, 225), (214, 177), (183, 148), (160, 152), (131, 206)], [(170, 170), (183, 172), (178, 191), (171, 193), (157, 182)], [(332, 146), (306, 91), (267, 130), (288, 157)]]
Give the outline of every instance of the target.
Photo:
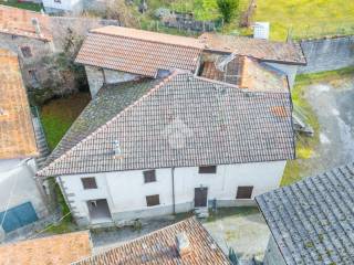
[[(247, 0), (242, 0), (247, 1)], [(271, 23), (271, 39), (284, 41), (288, 29), (293, 35), (315, 36), (354, 33), (354, 1), (343, 0), (261, 0), (254, 21)]]

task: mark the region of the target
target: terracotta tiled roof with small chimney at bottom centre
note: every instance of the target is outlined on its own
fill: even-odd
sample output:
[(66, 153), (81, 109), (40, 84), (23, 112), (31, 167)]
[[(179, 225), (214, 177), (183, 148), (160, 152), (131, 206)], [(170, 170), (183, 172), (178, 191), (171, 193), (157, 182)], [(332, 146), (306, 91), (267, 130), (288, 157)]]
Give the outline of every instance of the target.
[[(184, 233), (189, 252), (179, 255), (176, 236)], [(127, 242), (75, 265), (227, 265), (231, 264), (218, 244), (194, 218)]]

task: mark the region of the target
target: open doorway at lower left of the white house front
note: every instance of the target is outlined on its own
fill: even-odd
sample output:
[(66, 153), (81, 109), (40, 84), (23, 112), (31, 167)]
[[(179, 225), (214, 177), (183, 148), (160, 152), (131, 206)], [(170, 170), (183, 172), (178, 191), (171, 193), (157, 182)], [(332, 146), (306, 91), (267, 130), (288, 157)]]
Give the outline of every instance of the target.
[(112, 221), (106, 199), (87, 201), (87, 208), (91, 223), (106, 223)]

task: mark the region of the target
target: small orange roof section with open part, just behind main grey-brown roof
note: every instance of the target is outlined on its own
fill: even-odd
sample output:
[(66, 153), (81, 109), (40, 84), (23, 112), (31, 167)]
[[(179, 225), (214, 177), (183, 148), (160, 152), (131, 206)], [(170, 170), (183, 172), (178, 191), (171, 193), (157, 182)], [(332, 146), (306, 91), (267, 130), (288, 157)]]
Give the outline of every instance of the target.
[(218, 70), (216, 64), (217, 62), (205, 62), (201, 76), (250, 91), (290, 93), (287, 74), (257, 60), (236, 56), (226, 64), (223, 71)]

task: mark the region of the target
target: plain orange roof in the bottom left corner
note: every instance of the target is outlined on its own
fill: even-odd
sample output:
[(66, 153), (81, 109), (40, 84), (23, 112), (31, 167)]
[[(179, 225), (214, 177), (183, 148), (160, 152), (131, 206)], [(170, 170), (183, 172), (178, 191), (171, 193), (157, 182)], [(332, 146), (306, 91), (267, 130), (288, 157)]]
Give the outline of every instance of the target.
[(67, 265), (90, 256), (88, 231), (20, 241), (0, 246), (0, 264)]

